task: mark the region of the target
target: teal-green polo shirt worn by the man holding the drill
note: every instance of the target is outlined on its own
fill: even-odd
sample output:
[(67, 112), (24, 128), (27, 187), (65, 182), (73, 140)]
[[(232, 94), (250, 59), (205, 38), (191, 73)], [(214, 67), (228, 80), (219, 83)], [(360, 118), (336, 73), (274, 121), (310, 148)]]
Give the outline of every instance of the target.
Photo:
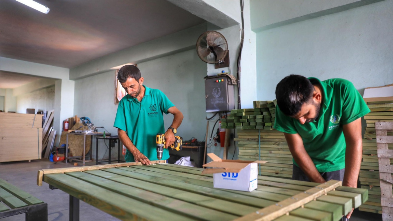
[[(158, 160), (156, 135), (165, 133), (163, 114), (168, 114), (168, 109), (174, 105), (162, 91), (143, 87), (145, 87), (145, 96), (141, 102), (129, 94), (121, 99), (113, 126), (126, 131), (132, 143), (149, 160)], [(164, 148), (162, 160), (168, 158), (168, 149)], [(125, 161), (135, 161), (128, 149)]]

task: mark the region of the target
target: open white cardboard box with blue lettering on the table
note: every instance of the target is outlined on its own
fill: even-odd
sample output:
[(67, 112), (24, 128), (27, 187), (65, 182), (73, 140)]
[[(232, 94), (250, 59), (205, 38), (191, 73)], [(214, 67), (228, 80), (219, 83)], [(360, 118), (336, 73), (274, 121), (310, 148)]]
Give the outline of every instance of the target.
[(202, 174), (213, 174), (214, 188), (251, 192), (258, 186), (258, 164), (267, 161), (222, 160), (214, 153), (208, 153), (213, 160), (203, 166)]

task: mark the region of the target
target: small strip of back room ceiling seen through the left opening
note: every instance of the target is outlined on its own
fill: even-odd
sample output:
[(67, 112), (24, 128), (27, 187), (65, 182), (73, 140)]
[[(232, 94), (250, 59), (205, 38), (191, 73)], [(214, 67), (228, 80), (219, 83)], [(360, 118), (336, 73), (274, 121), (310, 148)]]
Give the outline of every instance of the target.
[(38, 79), (40, 77), (0, 71), (0, 88), (16, 88)]

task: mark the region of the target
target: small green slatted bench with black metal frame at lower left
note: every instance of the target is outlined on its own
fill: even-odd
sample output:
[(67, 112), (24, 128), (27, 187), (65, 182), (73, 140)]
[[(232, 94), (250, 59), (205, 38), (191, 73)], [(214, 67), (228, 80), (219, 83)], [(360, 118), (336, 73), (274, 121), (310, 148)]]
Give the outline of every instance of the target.
[(0, 179), (0, 219), (26, 213), (26, 221), (48, 221), (48, 204)]

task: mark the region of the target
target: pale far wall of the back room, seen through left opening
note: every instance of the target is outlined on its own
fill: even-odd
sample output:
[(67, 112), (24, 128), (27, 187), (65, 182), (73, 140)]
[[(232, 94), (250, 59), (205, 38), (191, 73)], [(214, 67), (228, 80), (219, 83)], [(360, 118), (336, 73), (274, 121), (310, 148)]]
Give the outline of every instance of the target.
[(17, 112), (26, 113), (26, 109), (34, 108), (37, 111), (50, 111), (55, 109), (55, 87), (44, 88), (27, 94), (17, 96)]

